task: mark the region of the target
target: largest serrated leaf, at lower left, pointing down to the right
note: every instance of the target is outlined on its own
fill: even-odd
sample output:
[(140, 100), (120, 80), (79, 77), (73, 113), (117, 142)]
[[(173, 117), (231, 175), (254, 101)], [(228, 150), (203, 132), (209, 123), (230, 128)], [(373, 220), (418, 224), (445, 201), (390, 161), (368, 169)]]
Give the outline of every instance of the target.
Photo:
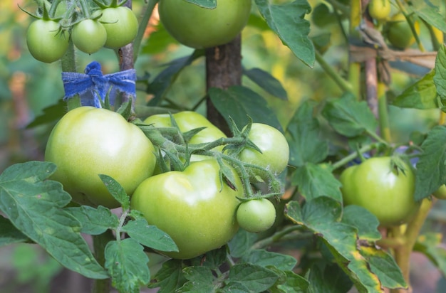
[(48, 180), (54, 171), (55, 164), (43, 161), (9, 166), (0, 175), (0, 211), (61, 265), (85, 277), (105, 279), (107, 273), (80, 233), (81, 223), (63, 210), (71, 196), (61, 183)]

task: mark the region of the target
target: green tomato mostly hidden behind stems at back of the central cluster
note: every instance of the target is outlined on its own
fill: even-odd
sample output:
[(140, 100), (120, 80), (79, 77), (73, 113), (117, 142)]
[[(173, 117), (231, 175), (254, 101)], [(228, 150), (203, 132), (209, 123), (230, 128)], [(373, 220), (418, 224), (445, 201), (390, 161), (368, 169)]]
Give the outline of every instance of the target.
[[(190, 144), (204, 144), (213, 142), (214, 140), (226, 137), (226, 134), (218, 129), (214, 124), (209, 122), (202, 114), (192, 111), (182, 111), (172, 114), (177, 122), (181, 132), (188, 132), (199, 127), (206, 127), (195, 134), (190, 139)], [(154, 127), (172, 127), (170, 114), (155, 114), (147, 117), (144, 120), (145, 124), (152, 124)], [(215, 150), (222, 151), (223, 146), (217, 146)], [(191, 161), (198, 161), (199, 159), (208, 159), (206, 156), (192, 155)]]

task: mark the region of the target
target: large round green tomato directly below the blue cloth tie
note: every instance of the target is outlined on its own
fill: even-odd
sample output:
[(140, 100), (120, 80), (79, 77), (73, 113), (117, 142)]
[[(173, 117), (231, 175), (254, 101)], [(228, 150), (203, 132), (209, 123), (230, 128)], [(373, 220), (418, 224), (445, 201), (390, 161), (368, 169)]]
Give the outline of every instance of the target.
[(53, 128), (46, 161), (57, 166), (51, 179), (60, 181), (73, 201), (118, 208), (99, 174), (113, 177), (132, 194), (155, 168), (155, 148), (145, 134), (116, 112), (78, 107)]

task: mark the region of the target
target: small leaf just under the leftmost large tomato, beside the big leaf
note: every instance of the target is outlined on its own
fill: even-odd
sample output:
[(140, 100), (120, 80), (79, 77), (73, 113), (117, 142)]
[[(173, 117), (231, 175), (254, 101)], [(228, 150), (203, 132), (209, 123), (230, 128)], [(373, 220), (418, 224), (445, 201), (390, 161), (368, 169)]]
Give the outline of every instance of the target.
[(98, 206), (79, 206), (66, 208), (79, 222), (81, 222), (81, 233), (99, 235), (108, 229), (118, 228), (118, 217), (108, 208)]

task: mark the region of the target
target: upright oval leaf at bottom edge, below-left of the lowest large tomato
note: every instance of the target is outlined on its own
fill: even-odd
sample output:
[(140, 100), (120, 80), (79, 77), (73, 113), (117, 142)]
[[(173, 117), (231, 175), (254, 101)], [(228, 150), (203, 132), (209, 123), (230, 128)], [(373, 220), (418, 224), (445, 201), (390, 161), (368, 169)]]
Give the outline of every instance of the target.
[(149, 257), (144, 247), (132, 238), (110, 241), (105, 246), (105, 268), (119, 292), (139, 293), (150, 282)]

